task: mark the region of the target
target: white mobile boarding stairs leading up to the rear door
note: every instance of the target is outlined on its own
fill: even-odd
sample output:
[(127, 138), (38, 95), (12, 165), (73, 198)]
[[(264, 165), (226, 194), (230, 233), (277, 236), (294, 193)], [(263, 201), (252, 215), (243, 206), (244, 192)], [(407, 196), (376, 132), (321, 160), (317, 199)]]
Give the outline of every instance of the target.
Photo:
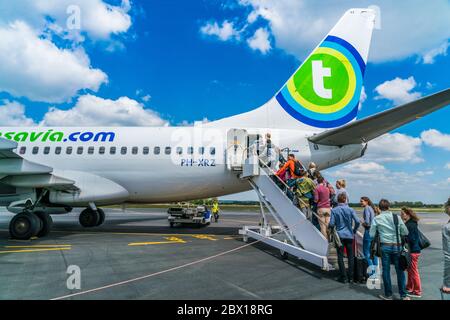
[[(248, 145), (229, 145), (228, 169), (236, 173), (239, 179), (248, 181), (260, 201), (260, 224), (244, 226), (239, 233), (244, 241), (255, 239), (279, 249), (283, 256), (289, 254), (323, 270), (333, 270), (333, 264), (329, 260), (334, 248), (312, 223), (312, 217), (317, 215), (305, 208), (309, 206), (300, 206), (303, 207), (300, 209), (294, 205), (286, 194), (289, 187), (275, 175), (266, 161)], [(275, 220), (276, 226), (271, 225), (266, 210)], [(357, 243), (362, 245), (360, 234)]]

